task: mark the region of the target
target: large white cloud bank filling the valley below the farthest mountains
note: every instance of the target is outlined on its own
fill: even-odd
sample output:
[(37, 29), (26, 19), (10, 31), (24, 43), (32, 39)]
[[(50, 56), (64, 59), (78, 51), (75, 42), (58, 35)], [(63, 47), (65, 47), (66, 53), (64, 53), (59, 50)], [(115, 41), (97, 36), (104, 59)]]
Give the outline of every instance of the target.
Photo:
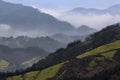
[(102, 29), (108, 25), (120, 22), (120, 15), (105, 14), (80, 14), (66, 13), (50, 9), (41, 9), (42, 12), (50, 14), (59, 20), (68, 21), (75, 27), (88, 25), (95, 29)]

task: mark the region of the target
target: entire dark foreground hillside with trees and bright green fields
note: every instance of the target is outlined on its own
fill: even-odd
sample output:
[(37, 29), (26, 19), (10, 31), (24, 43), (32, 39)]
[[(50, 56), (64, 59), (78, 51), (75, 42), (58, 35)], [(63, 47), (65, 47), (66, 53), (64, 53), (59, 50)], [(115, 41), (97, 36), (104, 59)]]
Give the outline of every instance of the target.
[(120, 80), (120, 25), (108, 26), (84, 42), (72, 42), (24, 72), (0, 76), (0, 80)]

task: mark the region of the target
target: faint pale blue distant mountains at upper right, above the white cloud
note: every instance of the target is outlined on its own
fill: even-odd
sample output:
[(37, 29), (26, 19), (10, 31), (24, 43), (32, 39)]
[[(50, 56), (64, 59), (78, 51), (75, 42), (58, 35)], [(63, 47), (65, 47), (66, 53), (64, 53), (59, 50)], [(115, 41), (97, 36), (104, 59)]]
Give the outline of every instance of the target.
[(120, 14), (120, 4), (113, 5), (106, 9), (96, 9), (96, 8), (74, 8), (69, 12), (75, 12), (80, 14)]

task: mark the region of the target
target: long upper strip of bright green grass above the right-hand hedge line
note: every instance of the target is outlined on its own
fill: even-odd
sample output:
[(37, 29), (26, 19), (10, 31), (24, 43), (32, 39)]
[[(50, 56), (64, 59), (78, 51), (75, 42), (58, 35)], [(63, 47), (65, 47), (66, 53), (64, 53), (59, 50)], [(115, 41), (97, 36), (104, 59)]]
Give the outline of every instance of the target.
[(77, 58), (81, 59), (81, 58), (84, 58), (84, 57), (87, 57), (87, 56), (90, 56), (90, 55), (101, 54), (101, 53), (104, 53), (106, 51), (115, 50), (115, 49), (120, 49), (120, 40), (115, 41), (115, 42), (110, 43), (110, 44), (100, 46), (100, 47), (98, 47), (96, 49), (93, 49), (89, 52), (78, 55)]

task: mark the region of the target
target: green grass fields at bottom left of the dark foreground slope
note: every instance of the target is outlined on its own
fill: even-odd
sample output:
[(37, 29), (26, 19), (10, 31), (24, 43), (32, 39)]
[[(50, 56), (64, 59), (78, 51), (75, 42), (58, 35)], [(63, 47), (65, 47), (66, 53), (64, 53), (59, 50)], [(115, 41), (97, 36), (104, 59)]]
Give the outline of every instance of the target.
[(40, 71), (33, 71), (26, 73), (25, 75), (13, 76), (7, 78), (7, 80), (46, 80), (47, 78), (52, 78), (59, 71), (64, 63), (57, 64), (55, 66), (46, 68)]

